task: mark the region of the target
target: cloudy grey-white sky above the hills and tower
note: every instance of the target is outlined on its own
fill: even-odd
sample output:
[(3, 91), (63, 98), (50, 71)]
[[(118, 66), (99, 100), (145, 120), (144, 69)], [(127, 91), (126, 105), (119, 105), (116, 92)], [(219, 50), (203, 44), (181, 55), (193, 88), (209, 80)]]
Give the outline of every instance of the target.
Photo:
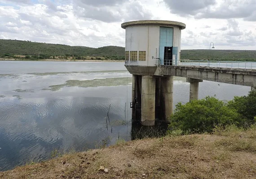
[(181, 21), (181, 49), (256, 50), (256, 0), (0, 0), (0, 38), (124, 47), (122, 22)]

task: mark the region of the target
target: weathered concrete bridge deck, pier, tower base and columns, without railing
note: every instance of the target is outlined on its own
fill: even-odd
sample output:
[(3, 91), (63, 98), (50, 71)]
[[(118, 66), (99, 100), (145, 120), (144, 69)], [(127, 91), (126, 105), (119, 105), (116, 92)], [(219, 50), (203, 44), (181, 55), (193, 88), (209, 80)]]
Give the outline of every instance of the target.
[[(203, 80), (254, 86), (252, 90), (256, 90), (256, 70), (163, 65), (125, 65), (125, 67), (131, 74), (136, 76), (135, 101), (138, 104), (136, 119), (141, 119), (142, 124), (147, 126), (154, 125), (155, 118), (166, 120), (172, 114), (172, 76), (186, 77), (187, 81), (190, 82), (190, 101), (198, 99), (199, 82)], [(141, 76), (143, 77), (141, 78)], [(133, 77), (134, 80), (135, 78)], [(159, 83), (161, 84), (160, 89)], [(134, 93), (134, 87), (132, 87), (132, 90), (132, 93)]]

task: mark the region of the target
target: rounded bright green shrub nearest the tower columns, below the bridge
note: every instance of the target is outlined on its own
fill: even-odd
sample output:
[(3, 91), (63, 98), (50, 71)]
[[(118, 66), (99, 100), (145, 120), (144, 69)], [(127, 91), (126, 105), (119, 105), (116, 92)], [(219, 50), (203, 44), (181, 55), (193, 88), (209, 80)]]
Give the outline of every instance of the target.
[(178, 103), (171, 115), (170, 130), (182, 130), (183, 133), (212, 133), (216, 125), (240, 126), (244, 123), (234, 108), (214, 97), (194, 100), (185, 105)]

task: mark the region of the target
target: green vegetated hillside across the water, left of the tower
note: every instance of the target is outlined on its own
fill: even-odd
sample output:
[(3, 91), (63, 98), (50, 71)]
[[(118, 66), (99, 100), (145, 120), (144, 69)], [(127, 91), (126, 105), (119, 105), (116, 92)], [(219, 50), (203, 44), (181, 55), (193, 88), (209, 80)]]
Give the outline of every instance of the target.
[(124, 60), (124, 47), (100, 48), (0, 39), (0, 58), (23, 60)]

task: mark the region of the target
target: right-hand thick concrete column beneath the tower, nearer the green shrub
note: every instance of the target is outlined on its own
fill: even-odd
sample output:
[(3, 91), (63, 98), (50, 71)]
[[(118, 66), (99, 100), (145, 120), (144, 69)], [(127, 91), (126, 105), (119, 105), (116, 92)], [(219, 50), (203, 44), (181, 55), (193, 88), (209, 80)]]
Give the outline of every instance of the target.
[(163, 120), (168, 120), (173, 110), (173, 77), (161, 78), (161, 112)]

